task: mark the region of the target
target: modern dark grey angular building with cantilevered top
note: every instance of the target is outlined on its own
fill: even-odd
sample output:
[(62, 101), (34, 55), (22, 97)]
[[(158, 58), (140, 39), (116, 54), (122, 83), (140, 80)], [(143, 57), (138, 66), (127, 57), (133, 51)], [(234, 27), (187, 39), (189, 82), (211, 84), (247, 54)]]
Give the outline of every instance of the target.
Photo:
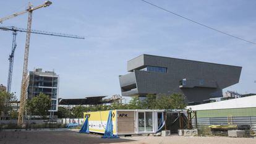
[(222, 96), (239, 82), (242, 67), (142, 54), (127, 62), (120, 75), (122, 96), (182, 93), (187, 102)]

